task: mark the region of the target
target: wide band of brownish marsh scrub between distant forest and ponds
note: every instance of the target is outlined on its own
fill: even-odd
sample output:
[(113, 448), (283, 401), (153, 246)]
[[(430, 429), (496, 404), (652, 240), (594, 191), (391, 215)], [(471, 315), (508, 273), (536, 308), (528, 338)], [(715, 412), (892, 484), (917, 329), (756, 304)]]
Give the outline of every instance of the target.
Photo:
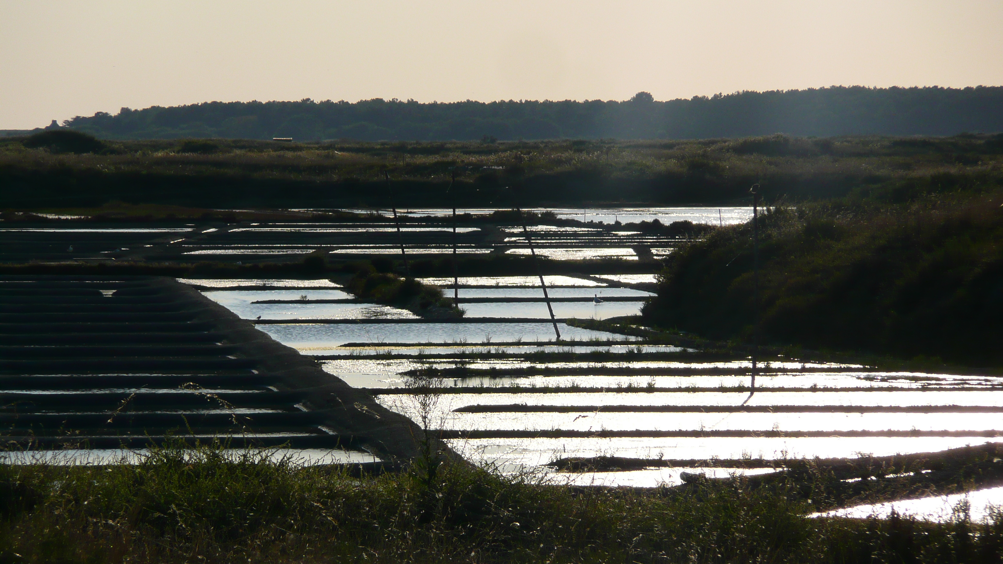
[[(62, 147), (0, 138), (0, 182), (32, 187), (0, 194), (0, 207), (137, 203), (139, 194), (146, 202), (222, 209), (388, 208), (391, 200), (398, 207), (744, 204), (755, 182), (767, 198), (804, 201), (900, 190), (922, 179), (999, 178), (1003, 155), (998, 134), (494, 144), (91, 137), (74, 142), (73, 151)], [(447, 192), (454, 170), (461, 174)]]

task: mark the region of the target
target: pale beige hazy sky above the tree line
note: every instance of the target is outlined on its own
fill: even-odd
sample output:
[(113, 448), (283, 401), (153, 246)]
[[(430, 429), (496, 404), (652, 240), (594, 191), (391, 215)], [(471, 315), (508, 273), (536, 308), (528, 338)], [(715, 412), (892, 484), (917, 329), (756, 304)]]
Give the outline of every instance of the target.
[(207, 100), (1003, 85), (1003, 0), (0, 0), (0, 128)]

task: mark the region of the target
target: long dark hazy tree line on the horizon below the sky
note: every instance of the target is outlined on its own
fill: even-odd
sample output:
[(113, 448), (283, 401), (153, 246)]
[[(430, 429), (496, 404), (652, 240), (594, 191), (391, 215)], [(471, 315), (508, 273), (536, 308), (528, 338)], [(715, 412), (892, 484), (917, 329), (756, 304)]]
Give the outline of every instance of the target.
[(743, 91), (656, 101), (461, 101), (419, 103), (205, 102), (121, 108), (65, 125), (111, 139), (229, 137), (296, 140), (708, 138), (764, 135), (950, 135), (1003, 131), (1003, 86)]

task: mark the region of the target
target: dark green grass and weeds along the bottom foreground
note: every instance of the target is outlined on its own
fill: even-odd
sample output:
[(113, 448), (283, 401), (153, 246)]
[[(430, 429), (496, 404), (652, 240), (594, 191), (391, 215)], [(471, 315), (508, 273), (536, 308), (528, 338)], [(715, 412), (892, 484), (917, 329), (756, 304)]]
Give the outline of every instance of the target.
[(569, 488), (458, 464), (360, 480), (211, 448), (0, 466), (0, 562), (997, 562), (1003, 546), (1000, 519), (807, 519), (782, 483)]

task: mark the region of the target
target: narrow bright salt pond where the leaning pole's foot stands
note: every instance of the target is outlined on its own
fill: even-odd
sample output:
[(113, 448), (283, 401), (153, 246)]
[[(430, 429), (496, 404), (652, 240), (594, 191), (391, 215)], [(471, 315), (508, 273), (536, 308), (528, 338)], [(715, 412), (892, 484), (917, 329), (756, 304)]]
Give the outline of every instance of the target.
[[(466, 343), (546, 341), (554, 338), (549, 322), (532, 323), (283, 323), (258, 325), (282, 344), (298, 347), (334, 348), (349, 342)], [(580, 341), (632, 340), (632, 337), (594, 331), (558, 323), (561, 336)], [(636, 338), (636, 337), (635, 337)]]

